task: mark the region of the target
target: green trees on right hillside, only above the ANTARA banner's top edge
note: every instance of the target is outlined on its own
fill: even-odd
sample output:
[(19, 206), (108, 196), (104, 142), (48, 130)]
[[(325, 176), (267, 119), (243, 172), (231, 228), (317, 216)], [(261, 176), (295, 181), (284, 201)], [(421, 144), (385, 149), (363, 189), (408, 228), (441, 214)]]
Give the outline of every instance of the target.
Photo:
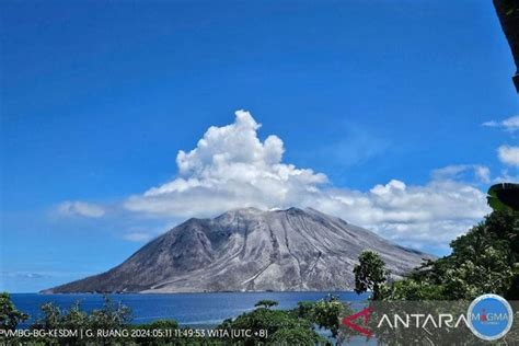
[(385, 281), (378, 255), (365, 252), (355, 267), (356, 291), (371, 289), (372, 300), (472, 300), (484, 293), (519, 299), (518, 211), (496, 210), (450, 245), (450, 255), (394, 282)]

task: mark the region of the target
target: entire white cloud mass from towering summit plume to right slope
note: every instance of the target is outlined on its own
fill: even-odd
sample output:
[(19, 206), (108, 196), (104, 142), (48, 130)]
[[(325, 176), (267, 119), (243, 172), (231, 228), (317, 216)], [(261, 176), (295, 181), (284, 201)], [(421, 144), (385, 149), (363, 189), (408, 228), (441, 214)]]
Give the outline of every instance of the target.
[(368, 192), (334, 188), (322, 173), (282, 163), (284, 143), (257, 137), (250, 113), (210, 127), (189, 152), (176, 157), (178, 176), (125, 201), (128, 210), (162, 217), (208, 217), (232, 208), (313, 207), (368, 227), (407, 245), (446, 245), (489, 211), (485, 194), (453, 180), (472, 170), (488, 181), (485, 166), (436, 171), (426, 185), (393, 180)]

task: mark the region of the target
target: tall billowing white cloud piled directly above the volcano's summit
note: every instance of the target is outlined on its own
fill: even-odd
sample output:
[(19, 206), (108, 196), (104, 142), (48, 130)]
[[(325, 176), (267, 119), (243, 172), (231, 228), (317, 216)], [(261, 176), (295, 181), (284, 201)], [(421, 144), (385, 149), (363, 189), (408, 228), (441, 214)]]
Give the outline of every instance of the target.
[(269, 208), (297, 204), (327, 182), (326, 175), (281, 163), (282, 141), (257, 137), (261, 127), (250, 113), (238, 111), (235, 122), (210, 127), (189, 152), (176, 155), (178, 176), (131, 196), (132, 211), (207, 216), (240, 207)]

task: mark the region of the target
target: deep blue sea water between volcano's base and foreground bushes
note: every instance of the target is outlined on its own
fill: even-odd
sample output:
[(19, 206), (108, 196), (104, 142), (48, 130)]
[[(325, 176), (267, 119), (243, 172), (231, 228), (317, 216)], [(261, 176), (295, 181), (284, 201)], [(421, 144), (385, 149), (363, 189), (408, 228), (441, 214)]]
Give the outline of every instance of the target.
[[(148, 323), (155, 320), (173, 319), (181, 325), (214, 326), (224, 319), (235, 318), (251, 311), (262, 299), (273, 299), (279, 302), (277, 309), (291, 309), (299, 301), (316, 301), (333, 293), (342, 301), (350, 302), (353, 307), (361, 308), (369, 297), (355, 292), (218, 292), (218, 293), (171, 293), (171, 295), (109, 295), (115, 301), (120, 301), (132, 311), (132, 323)], [(69, 309), (80, 301), (85, 311), (92, 311), (103, 305), (102, 295), (38, 295), (12, 293), (11, 298), (16, 308), (27, 313), (31, 319), (19, 327), (28, 325), (41, 314), (39, 307), (53, 302), (62, 309)]]

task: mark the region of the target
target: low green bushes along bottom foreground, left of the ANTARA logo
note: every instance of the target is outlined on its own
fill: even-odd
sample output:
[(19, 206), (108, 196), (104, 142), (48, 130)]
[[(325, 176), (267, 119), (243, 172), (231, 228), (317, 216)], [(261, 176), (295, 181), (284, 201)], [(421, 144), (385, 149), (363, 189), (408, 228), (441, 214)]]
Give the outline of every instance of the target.
[[(28, 316), (16, 310), (8, 293), (2, 293), (0, 311), (2, 330), (14, 330)], [(41, 307), (41, 314), (30, 331), (82, 331), (72, 335), (10, 336), (0, 334), (0, 344), (28, 345), (331, 345), (315, 328), (330, 330), (337, 337), (339, 318), (349, 308), (338, 297), (328, 295), (316, 301), (300, 302), (292, 310), (276, 310), (274, 300), (258, 301), (251, 312), (223, 321), (214, 330), (191, 330), (178, 326), (176, 321), (161, 320), (147, 324), (130, 324), (129, 308), (115, 303), (108, 297), (102, 308), (91, 312), (77, 302), (64, 310), (53, 303)], [(86, 335), (85, 331), (92, 331)], [(101, 331), (101, 333), (99, 333)], [(250, 331), (249, 333), (241, 333)], [(257, 332), (257, 333), (254, 333)], [(199, 333), (199, 334), (198, 334)]]

